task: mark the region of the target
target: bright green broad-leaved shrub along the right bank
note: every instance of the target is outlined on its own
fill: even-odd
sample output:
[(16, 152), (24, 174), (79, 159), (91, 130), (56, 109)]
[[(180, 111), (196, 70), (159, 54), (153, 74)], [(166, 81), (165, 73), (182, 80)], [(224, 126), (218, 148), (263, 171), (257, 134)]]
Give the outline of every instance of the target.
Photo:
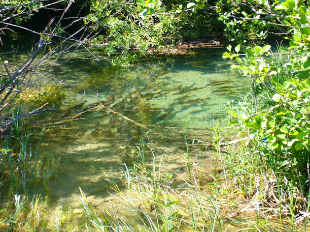
[[(269, 45), (238, 45), (235, 47), (236, 53), (232, 51), (232, 46), (227, 47), (228, 52), (223, 54), (223, 58), (236, 58), (239, 64), (232, 65), (232, 68), (239, 69), (252, 82), (252, 92), (239, 104), (231, 105), (231, 122), (241, 123), (243, 132), (248, 131), (252, 164), (259, 163), (248, 163), (244, 167), (252, 166), (254, 173), (264, 174), (265, 180), (262, 181), (269, 187), (270, 180), (266, 178), (267, 172), (271, 172), (274, 176), (269, 175), (269, 178), (276, 178), (277, 188), (284, 190), (283, 196), (280, 196), (279, 189), (276, 191), (278, 199), (299, 196), (299, 202), (307, 210), (305, 193), (309, 188), (307, 179), (310, 175), (310, 9), (306, 3), (291, 0), (275, 1), (273, 5), (269, 5), (268, 1), (251, 2), (255, 3), (255, 9), (261, 9), (256, 16), (275, 14), (281, 26), (287, 29), (285, 38), (289, 39), (290, 46), (280, 47), (276, 55), (270, 51)], [(268, 9), (273, 9), (273, 13), (267, 13)], [(273, 23), (273, 18), (264, 21)], [(262, 168), (264, 166), (267, 169)]]

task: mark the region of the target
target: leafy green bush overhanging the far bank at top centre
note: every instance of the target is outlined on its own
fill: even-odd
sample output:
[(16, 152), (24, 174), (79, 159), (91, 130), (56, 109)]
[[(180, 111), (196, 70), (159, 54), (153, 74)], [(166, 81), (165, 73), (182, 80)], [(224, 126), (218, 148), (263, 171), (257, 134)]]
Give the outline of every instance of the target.
[(160, 1), (91, 0), (90, 10), (87, 18), (93, 29), (102, 31), (92, 42), (103, 45), (107, 55), (119, 53), (112, 58), (115, 64), (130, 62), (149, 46), (162, 46), (176, 37), (172, 29), (176, 19), (173, 14), (164, 14)]

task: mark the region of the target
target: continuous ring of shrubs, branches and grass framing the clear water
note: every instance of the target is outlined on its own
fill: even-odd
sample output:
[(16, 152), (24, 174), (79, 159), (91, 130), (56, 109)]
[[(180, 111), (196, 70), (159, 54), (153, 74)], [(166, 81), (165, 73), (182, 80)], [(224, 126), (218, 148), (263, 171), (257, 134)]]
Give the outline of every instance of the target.
[[(8, 50), (0, 53), (1, 231), (309, 231), (309, 1), (76, 2), (0, 0), (0, 35)], [(32, 21), (38, 19), (45, 24)], [(264, 42), (269, 34), (288, 46), (280, 43), (273, 52)], [(6, 60), (7, 52), (16, 59), (29, 36), (29, 54)], [(81, 50), (126, 70), (146, 54), (221, 46), (201, 38), (229, 41), (222, 58), (236, 60), (232, 68), (250, 83), (229, 102), (229, 125), (215, 121), (209, 141), (189, 139), (185, 129), (185, 162), (174, 173), (161, 171), (163, 160), (144, 134), (131, 150), (141, 160), (120, 167), (117, 178), (104, 176), (109, 203), (92, 204), (80, 188), (80, 208), (60, 206), (49, 221), (45, 208), (57, 161), (40, 157), (45, 128), (34, 131), (31, 118), (51, 116), (66, 97), (53, 71)], [(88, 46), (97, 46), (102, 58)], [(46, 78), (55, 86), (41, 86)], [(75, 214), (79, 221), (70, 224)]]

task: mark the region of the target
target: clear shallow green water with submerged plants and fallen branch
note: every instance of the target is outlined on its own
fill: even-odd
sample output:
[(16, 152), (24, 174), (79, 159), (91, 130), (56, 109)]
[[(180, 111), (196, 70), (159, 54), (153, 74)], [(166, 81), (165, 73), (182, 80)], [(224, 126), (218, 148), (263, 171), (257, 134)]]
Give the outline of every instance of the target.
[[(40, 146), (41, 155), (56, 164), (48, 182), (48, 213), (55, 225), (55, 208), (80, 205), (78, 187), (94, 204), (103, 201), (104, 178), (139, 161), (131, 151), (147, 131), (163, 172), (174, 172), (185, 162), (185, 127), (188, 138), (206, 139), (215, 122), (225, 120), (225, 104), (238, 98), (244, 82), (230, 69), (232, 61), (221, 58), (223, 50), (193, 52), (148, 57), (127, 71), (80, 58), (58, 70), (70, 95)], [(96, 108), (100, 103), (114, 113)]]

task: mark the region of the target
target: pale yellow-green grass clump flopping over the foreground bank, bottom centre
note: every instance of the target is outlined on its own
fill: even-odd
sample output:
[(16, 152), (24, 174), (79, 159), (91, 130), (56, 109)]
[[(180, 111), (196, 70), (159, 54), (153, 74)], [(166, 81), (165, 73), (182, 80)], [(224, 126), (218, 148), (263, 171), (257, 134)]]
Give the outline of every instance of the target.
[[(173, 173), (175, 178), (167, 178), (167, 174), (161, 173), (161, 161), (157, 161), (149, 144), (148, 148), (152, 154), (151, 164), (144, 166), (142, 160), (132, 168), (125, 165), (121, 168), (122, 183), (116, 183), (115, 176), (105, 179), (111, 186), (108, 205), (93, 206), (80, 189), (89, 227), (102, 232), (289, 231), (270, 221), (269, 208), (259, 202), (240, 198), (235, 191), (230, 194), (232, 200), (220, 195), (226, 181), (218, 183), (218, 196), (214, 196), (201, 190), (193, 169), (190, 169), (192, 179), (176, 173)], [(184, 166), (187, 172), (187, 163)], [(234, 173), (229, 175), (234, 179)], [(182, 183), (175, 186), (173, 180)], [(232, 182), (234, 180), (228, 181)]]

